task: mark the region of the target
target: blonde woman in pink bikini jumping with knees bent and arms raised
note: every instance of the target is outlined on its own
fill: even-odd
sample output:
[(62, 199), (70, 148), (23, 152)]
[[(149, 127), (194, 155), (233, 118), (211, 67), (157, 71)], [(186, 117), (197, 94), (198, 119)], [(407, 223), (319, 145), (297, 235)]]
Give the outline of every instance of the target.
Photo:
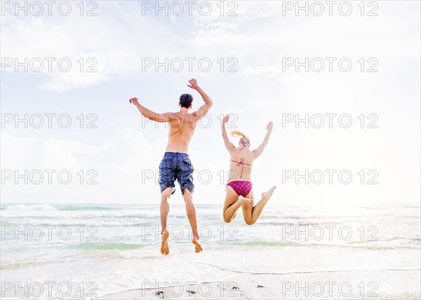
[(262, 144), (258, 148), (250, 151), (250, 139), (242, 132), (232, 132), (233, 137), (240, 137), (239, 147), (229, 142), (225, 124), (229, 120), (229, 115), (225, 116), (222, 121), (222, 137), (224, 138), (225, 147), (227, 148), (231, 160), (229, 163), (229, 178), (227, 182), (227, 196), (224, 203), (224, 221), (229, 223), (236, 216), (236, 211), (243, 207), (243, 217), (246, 224), (255, 224), (260, 213), (265, 207), (267, 201), (274, 193), (276, 186), (269, 191), (262, 193), (262, 199), (254, 205), (253, 202), (253, 184), (251, 183), (250, 173), (253, 161), (262, 154), (267, 142), (269, 142), (272, 133), (273, 124), (267, 124), (267, 134)]

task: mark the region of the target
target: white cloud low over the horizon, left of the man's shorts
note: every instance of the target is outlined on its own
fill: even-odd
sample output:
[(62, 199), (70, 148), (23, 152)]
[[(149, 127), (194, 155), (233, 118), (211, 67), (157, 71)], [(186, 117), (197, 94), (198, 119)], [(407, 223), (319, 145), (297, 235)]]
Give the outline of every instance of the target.
[[(161, 153), (158, 154), (153, 149), (153, 145), (139, 132), (131, 129), (114, 132), (113, 138), (102, 146), (54, 138), (21, 138), (2, 132), (2, 175), (7, 172), (10, 176), (7, 170), (13, 173), (17, 170), (18, 175), (23, 175), (27, 170), (29, 179), (28, 184), (25, 184), (25, 179), (18, 179), (18, 184), (15, 184), (15, 175), (11, 179), (4, 179), (2, 199), (6, 202), (44, 200), (60, 203), (63, 200), (76, 199), (78, 203), (118, 203), (121, 197), (126, 202), (140, 196), (152, 198), (156, 191), (159, 193), (159, 188), (155, 185), (156, 178), (142, 183), (142, 177), (149, 175), (148, 170), (157, 169), (156, 162)], [(39, 185), (34, 184), (39, 180), (34, 172), (36, 170), (44, 174), (44, 180)], [(52, 184), (48, 184), (48, 172), (45, 170), (55, 171)], [(69, 184), (60, 184), (58, 181), (58, 172), (62, 170), (72, 175)], [(81, 170), (83, 184), (80, 182)], [(88, 170), (94, 170), (98, 176), (88, 174)], [(31, 180), (31, 173), (36, 175), (34, 180)], [(87, 185), (87, 180), (93, 177), (98, 184)], [(63, 180), (67, 180), (67, 177)]]

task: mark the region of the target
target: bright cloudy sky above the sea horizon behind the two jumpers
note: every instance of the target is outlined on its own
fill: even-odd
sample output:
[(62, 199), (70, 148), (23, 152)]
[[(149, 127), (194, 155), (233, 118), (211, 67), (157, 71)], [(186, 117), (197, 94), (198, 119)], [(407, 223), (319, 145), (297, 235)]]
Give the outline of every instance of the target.
[(252, 148), (274, 123), (256, 198), (420, 203), (419, 1), (38, 3), (1, 1), (2, 203), (159, 203), (168, 128), (128, 99), (194, 110), (192, 78), (195, 203), (225, 197), (224, 114)]

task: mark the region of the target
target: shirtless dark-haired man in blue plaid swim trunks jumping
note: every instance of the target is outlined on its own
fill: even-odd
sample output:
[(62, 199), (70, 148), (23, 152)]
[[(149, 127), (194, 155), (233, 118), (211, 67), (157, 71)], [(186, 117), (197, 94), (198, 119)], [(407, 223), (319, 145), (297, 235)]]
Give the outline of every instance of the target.
[(163, 155), (161, 164), (159, 165), (159, 186), (161, 186), (161, 226), (162, 226), (162, 242), (161, 253), (168, 255), (170, 248), (168, 247), (168, 229), (167, 219), (170, 211), (169, 198), (175, 192), (175, 179), (180, 184), (182, 196), (186, 203), (187, 217), (190, 226), (192, 226), (193, 240), (196, 252), (201, 252), (202, 247), (199, 243), (199, 234), (197, 233), (196, 209), (193, 204), (193, 165), (189, 159), (188, 148), (190, 140), (196, 129), (197, 121), (208, 113), (212, 107), (212, 100), (197, 84), (196, 79), (189, 80), (189, 88), (196, 90), (205, 104), (199, 110), (189, 114), (192, 108), (193, 96), (190, 94), (182, 94), (180, 96), (180, 111), (174, 113), (157, 114), (138, 102), (138, 98), (131, 98), (129, 102), (138, 107), (140, 114), (156, 122), (170, 123), (170, 131), (168, 133), (168, 144), (166, 152)]

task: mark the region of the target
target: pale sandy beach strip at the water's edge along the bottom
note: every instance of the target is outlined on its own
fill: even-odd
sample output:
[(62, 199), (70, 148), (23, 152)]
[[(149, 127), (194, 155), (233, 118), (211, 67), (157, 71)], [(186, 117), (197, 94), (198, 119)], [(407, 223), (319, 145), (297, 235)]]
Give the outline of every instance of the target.
[(223, 282), (167, 282), (93, 299), (420, 299), (420, 269), (244, 273)]

